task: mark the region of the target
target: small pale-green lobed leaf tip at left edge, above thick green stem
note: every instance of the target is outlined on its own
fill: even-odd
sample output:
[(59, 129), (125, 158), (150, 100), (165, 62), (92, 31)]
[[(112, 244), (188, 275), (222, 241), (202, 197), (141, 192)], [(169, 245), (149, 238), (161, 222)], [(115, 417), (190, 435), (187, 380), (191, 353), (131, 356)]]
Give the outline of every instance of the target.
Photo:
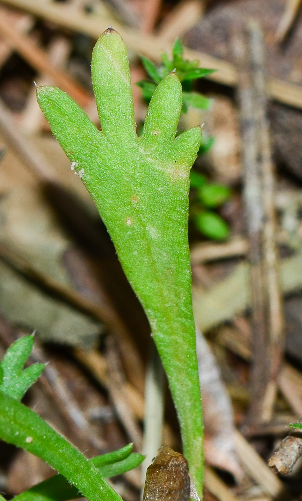
[(29, 387), (37, 381), (44, 370), (44, 364), (33, 364), (23, 370), (23, 366), (33, 349), (34, 336), (17, 339), (7, 350), (1, 362), (2, 381), (0, 390), (17, 400), (21, 400)]

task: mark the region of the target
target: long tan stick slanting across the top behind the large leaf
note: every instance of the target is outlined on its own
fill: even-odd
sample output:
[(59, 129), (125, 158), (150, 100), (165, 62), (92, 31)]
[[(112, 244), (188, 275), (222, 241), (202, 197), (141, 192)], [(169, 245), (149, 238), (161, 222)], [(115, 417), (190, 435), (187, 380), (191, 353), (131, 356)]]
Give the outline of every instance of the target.
[[(85, 33), (95, 39), (105, 31), (113, 20), (100, 19), (97, 16), (90, 16), (85, 13), (73, 13), (64, 4), (53, 4), (37, 2), (36, 0), (1, 0), (2, 3), (23, 9), (35, 16), (55, 23), (59, 26), (69, 28), (81, 33)], [(139, 31), (130, 30), (114, 21), (114, 28), (121, 34), (125, 44), (132, 49), (135, 54), (144, 54), (155, 62), (161, 61), (161, 54), (167, 50), (171, 52), (171, 44), (162, 41), (157, 36), (145, 35)], [(234, 86), (238, 81), (237, 71), (231, 63), (209, 56), (202, 52), (184, 48), (184, 57), (187, 59), (198, 59), (204, 68), (215, 68), (208, 79), (224, 85)], [(268, 81), (268, 90), (271, 98), (287, 104), (302, 108), (302, 87), (289, 84), (276, 78)]]

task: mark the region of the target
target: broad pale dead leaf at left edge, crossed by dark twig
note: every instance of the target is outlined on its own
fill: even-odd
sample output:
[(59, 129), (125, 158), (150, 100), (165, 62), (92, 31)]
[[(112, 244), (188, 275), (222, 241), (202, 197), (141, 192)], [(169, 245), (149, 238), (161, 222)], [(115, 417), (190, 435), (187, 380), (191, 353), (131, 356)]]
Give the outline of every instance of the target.
[[(0, 238), (42, 273), (65, 286), (72, 280), (62, 257), (73, 245), (60, 227), (41, 190), (16, 157), (3, 159), (0, 181)], [(18, 325), (37, 329), (43, 339), (91, 345), (102, 327), (74, 308), (54, 299), (0, 262), (2, 312)], [(18, 298), (18, 301), (16, 301)]]

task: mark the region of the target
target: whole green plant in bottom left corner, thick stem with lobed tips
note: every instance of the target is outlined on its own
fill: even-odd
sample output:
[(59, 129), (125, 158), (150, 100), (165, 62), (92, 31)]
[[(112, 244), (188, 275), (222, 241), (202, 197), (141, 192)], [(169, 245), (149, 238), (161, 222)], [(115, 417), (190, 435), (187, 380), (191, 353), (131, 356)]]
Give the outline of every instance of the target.
[(23, 369), (33, 348), (33, 336), (18, 339), (0, 364), (0, 439), (32, 452), (59, 475), (18, 494), (14, 501), (121, 501), (105, 476), (136, 468), (144, 456), (132, 453), (133, 444), (92, 459), (71, 445), (20, 400), (41, 375), (44, 364)]

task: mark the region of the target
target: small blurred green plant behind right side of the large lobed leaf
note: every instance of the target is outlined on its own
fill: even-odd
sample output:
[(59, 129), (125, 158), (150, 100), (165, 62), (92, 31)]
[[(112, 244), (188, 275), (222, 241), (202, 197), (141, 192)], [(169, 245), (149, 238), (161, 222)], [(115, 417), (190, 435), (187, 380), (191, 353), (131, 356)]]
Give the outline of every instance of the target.
[[(144, 99), (149, 102), (157, 85), (172, 71), (176, 74), (182, 85), (182, 112), (186, 113), (188, 106), (207, 110), (211, 100), (193, 91), (193, 82), (207, 77), (215, 70), (198, 68), (198, 61), (183, 59), (183, 49), (180, 40), (176, 40), (172, 59), (167, 54), (162, 55), (162, 65), (156, 67), (149, 59), (142, 57), (143, 66), (152, 80), (141, 80), (137, 85), (141, 87)], [(211, 148), (214, 138), (202, 139), (198, 155), (204, 154)], [(190, 175), (191, 188), (195, 188), (195, 196), (190, 198), (190, 217), (195, 227), (208, 238), (224, 240), (228, 237), (229, 227), (224, 219), (213, 212), (220, 207), (230, 196), (230, 189), (220, 184), (211, 184), (202, 174), (192, 170)]]

